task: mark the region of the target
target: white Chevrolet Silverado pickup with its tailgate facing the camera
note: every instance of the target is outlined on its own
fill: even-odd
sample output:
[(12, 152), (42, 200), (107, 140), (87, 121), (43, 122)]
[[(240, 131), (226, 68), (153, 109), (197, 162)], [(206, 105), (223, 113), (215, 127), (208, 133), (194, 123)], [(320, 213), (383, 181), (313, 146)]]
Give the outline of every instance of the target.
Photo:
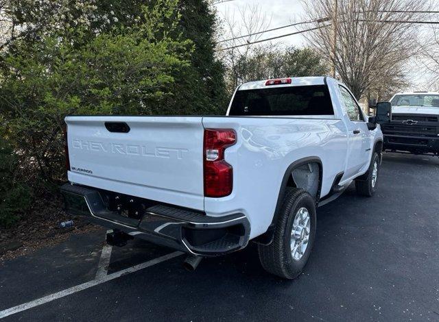
[(69, 214), (200, 258), (258, 244), (264, 269), (300, 274), (316, 208), (355, 180), (377, 188), (383, 136), (330, 77), (251, 82), (226, 116), (67, 116)]

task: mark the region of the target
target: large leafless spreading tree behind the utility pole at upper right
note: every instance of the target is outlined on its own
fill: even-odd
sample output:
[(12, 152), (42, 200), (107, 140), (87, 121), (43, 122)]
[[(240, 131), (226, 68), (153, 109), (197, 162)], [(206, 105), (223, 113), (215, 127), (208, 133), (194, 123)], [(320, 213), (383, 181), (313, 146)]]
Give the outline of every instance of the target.
[(407, 21), (422, 18), (426, 7), (417, 0), (337, 0), (335, 8), (333, 0), (316, 0), (306, 11), (320, 28), (307, 37), (359, 99), (376, 84), (403, 80), (401, 66), (418, 51), (416, 25)]

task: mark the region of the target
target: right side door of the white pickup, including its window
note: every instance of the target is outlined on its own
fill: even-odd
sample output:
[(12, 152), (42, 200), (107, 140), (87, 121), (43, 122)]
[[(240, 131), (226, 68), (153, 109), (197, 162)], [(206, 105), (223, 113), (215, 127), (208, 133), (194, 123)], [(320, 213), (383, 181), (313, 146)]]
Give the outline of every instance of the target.
[(342, 104), (346, 110), (346, 127), (348, 129), (348, 153), (344, 178), (352, 177), (368, 164), (370, 154), (369, 129), (364, 114), (347, 88), (340, 85)]

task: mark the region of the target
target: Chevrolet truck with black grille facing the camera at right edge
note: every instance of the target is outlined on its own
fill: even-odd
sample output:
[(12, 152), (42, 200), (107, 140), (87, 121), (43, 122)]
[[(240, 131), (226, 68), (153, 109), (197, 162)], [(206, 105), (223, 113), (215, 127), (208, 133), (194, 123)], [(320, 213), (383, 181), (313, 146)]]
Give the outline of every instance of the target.
[(384, 149), (439, 155), (439, 92), (402, 92), (390, 99), (391, 118), (381, 123)]

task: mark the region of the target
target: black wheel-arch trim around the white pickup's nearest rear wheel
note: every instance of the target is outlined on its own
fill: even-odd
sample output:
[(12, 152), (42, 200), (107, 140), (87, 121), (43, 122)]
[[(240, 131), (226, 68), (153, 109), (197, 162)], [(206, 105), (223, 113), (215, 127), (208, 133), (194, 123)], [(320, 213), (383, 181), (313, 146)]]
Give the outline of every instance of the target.
[(318, 156), (311, 156), (306, 158), (301, 158), (299, 160), (294, 161), (292, 164), (289, 164), (287, 169), (285, 170), (285, 173), (282, 178), (281, 186), (279, 188), (279, 193), (276, 201), (276, 208), (274, 210), (272, 223), (270, 226), (268, 226), (268, 230), (261, 234), (260, 236), (257, 236), (252, 241), (257, 244), (261, 245), (270, 245), (273, 241), (274, 237), (274, 230), (276, 230), (276, 223), (278, 221), (279, 216), (279, 210), (282, 206), (283, 196), (285, 195), (285, 190), (287, 188), (287, 183), (290, 175), (292, 174), (292, 171), (299, 166), (302, 166), (304, 164), (308, 163), (317, 163), (319, 167), (319, 178), (318, 178), (318, 189), (317, 189), (317, 195), (316, 195), (316, 203), (320, 199), (320, 191), (322, 190), (322, 177), (323, 177), (323, 164), (322, 160)]

